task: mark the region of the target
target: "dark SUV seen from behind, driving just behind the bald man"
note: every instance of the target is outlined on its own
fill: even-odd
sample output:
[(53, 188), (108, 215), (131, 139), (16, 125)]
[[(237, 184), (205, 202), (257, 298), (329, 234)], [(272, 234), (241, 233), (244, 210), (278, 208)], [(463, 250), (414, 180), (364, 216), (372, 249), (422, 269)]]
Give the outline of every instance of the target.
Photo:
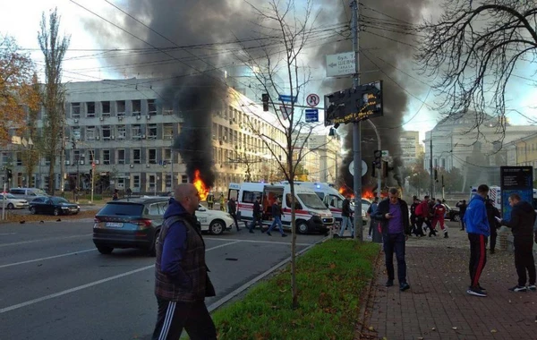
[(138, 248), (155, 256), (167, 197), (111, 200), (95, 216), (93, 243), (101, 254), (115, 248)]

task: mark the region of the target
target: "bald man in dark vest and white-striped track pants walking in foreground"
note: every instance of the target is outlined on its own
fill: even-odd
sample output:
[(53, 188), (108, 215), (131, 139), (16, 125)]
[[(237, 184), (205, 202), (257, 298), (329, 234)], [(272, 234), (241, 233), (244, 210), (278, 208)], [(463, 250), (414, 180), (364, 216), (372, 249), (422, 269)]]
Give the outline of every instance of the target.
[(217, 330), (205, 305), (215, 296), (205, 265), (205, 243), (194, 212), (200, 194), (190, 183), (175, 189), (164, 214), (157, 244), (155, 295), (158, 319), (153, 340), (176, 340), (183, 328), (192, 340), (216, 339)]

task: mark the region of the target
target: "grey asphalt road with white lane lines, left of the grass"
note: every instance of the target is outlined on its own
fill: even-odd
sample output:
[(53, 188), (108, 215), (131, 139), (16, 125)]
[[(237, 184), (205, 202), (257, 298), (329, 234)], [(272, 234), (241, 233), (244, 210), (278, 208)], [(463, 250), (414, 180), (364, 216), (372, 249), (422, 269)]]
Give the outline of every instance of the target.
[[(87, 220), (0, 225), (0, 340), (149, 339), (155, 259), (137, 250), (101, 255), (91, 230)], [(298, 250), (323, 237), (299, 235)], [(259, 230), (206, 235), (205, 242), (217, 289), (212, 307), (291, 253), (291, 237)]]

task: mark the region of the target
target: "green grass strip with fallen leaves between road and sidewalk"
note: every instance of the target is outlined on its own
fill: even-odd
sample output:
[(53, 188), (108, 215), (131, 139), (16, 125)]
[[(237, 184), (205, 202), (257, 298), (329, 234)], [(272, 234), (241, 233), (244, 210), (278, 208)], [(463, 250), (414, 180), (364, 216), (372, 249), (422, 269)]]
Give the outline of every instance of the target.
[(219, 339), (352, 339), (379, 245), (329, 240), (297, 261), (293, 309), (287, 266), (244, 298), (213, 312)]

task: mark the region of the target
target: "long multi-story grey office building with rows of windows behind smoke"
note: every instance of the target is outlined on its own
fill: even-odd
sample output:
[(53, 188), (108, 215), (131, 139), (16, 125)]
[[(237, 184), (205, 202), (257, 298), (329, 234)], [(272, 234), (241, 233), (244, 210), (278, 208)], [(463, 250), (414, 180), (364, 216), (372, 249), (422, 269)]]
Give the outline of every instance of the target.
[[(98, 191), (130, 188), (132, 192), (160, 193), (170, 191), (172, 183), (189, 181), (186, 165), (172, 145), (183, 131), (184, 115), (198, 113), (180, 113), (179, 107), (166, 106), (161, 99), (169, 88), (162, 81), (71, 82), (65, 89), (65, 140), (64, 148), (59, 148), (64, 149), (64, 164), (57, 157), (56, 190), (61, 174), (66, 190), (76, 183), (81, 189), (90, 188), (91, 169)], [(206, 152), (212, 152), (216, 173), (213, 191), (226, 191), (232, 182), (275, 180), (270, 178), (277, 175), (273, 155), (284, 159), (280, 145), (285, 143), (284, 132), (275, 127), (276, 117), (232, 88), (224, 92), (222, 104), (209, 116), (210, 131), (197, 132), (212, 146)], [(44, 115), (38, 116), (39, 129)], [(2, 166), (12, 166), (11, 185), (47, 188), (47, 159), (41, 157), (26, 178), (21, 149), (17, 148), (4, 150), (1, 158)]]

